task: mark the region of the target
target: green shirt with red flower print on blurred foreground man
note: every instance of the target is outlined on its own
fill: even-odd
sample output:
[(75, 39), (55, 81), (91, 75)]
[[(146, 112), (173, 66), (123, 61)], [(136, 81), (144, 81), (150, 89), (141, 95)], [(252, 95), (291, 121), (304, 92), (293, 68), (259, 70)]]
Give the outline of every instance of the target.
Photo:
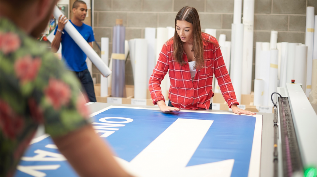
[(0, 176), (12, 176), (39, 124), (52, 137), (87, 125), (74, 73), (11, 21), (0, 18)]

